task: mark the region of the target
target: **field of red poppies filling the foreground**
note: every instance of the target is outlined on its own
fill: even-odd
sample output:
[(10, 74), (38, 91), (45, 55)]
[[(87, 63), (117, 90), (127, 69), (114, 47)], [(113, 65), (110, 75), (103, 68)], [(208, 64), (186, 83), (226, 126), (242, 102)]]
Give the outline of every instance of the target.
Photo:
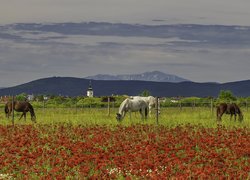
[(247, 128), (223, 126), (0, 126), (0, 174), (17, 179), (247, 179), (249, 138)]

